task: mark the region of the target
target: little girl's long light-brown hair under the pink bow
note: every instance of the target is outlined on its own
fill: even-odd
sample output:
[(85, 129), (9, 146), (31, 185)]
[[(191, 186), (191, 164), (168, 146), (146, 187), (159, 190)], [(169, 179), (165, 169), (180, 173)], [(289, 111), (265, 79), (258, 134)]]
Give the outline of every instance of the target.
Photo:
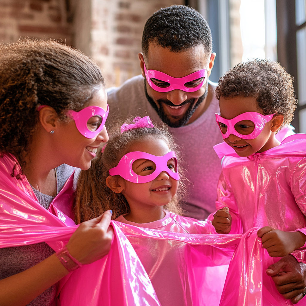
[[(118, 121), (117, 121), (118, 122)], [(129, 119), (127, 123), (131, 123)], [(154, 124), (153, 128), (129, 129), (121, 134), (121, 124), (114, 123), (108, 129), (110, 139), (103, 153), (99, 153), (91, 162), (91, 167), (81, 171), (78, 179), (75, 196), (75, 221), (81, 223), (96, 218), (106, 210), (112, 210), (112, 219), (130, 212), (129, 204), (121, 193), (113, 192), (106, 186), (106, 177), (109, 170), (118, 165), (120, 159), (129, 152), (129, 147), (136, 141), (145, 141), (152, 138), (163, 139), (169, 149), (177, 154), (177, 164), (180, 181), (177, 194), (164, 208), (177, 214), (182, 214), (181, 200), (185, 196), (185, 176), (180, 167), (182, 161), (178, 146), (175, 144), (165, 124)], [(118, 177), (118, 176), (117, 176)]]

